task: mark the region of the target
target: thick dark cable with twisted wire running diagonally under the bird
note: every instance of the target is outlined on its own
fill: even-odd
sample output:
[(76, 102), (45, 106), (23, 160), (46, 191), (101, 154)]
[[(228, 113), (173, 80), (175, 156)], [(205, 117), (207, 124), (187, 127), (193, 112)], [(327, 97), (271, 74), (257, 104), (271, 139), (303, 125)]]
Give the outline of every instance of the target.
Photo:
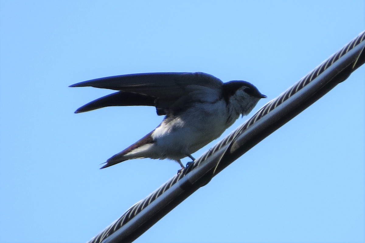
[[(134, 204), (88, 243), (132, 242), (138, 238), (191, 193), (207, 184), (216, 173), (360, 67), (365, 62), (364, 40), (365, 31), (284, 93), (264, 105), (253, 117), (197, 158), (191, 166)], [(315, 79), (319, 81), (312, 82)]]

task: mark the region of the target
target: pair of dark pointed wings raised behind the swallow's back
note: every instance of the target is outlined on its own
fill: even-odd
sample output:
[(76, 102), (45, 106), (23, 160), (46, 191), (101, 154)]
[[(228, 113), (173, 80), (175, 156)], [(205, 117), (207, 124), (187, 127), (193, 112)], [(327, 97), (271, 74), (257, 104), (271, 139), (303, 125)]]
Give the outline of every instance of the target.
[(200, 89), (220, 90), (223, 82), (203, 72), (157, 72), (127, 74), (92, 79), (76, 83), (70, 87), (91, 86), (103, 89), (119, 90), (80, 107), (76, 113), (106, 106), (149, 105), (155, 106), (158, 115), (177, 99)]

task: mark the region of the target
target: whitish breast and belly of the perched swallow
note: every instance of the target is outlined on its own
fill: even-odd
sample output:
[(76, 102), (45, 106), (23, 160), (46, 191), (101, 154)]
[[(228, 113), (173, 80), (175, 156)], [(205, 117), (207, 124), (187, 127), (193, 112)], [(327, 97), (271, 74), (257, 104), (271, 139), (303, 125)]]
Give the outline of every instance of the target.
[[(227, 124), (226, 103), (196, 103), (178, 116), (165, 118), (152, 133), (162, 157), (178, 160), (218, 138)], [(238, 118), (238, 114), (235, 119)], [(234, 120), (235, 120), (234, 119)]]

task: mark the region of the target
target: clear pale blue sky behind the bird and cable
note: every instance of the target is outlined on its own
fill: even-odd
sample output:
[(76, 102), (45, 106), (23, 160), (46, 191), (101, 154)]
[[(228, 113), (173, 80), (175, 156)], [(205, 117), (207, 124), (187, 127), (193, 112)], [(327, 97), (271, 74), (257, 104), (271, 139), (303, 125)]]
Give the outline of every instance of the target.
[[(361, 0), (1, 0), (0, 242), (86, 242), (179, 169), (99, 170), (162, 117), (74, 114), (110, 91), (69, 85), (201, 71), (257, 86), (268, 99), (252, 115), (360, 34), (364, 11)], [(361, 67), (135, 242), (364, 242), (364, 81)]]

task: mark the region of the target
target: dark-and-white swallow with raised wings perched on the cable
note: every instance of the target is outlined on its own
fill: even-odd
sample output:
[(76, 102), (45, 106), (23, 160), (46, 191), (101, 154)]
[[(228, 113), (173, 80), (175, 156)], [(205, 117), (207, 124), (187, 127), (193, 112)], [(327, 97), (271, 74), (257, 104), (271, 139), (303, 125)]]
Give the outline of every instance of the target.
[(218, 138), (241, 115), (247, 115), (266, 98), (246, 81), (229, 81), (204, 72), (154, 72), (97, 78), (69, 87), (118, 90), (84, 106), (82, 113), (107, 106), (154, 106), (165, 115), (146, 136), (109, 158), (100, 168), (135, 158), (170, 159), (185, 166), (189, 157)]

